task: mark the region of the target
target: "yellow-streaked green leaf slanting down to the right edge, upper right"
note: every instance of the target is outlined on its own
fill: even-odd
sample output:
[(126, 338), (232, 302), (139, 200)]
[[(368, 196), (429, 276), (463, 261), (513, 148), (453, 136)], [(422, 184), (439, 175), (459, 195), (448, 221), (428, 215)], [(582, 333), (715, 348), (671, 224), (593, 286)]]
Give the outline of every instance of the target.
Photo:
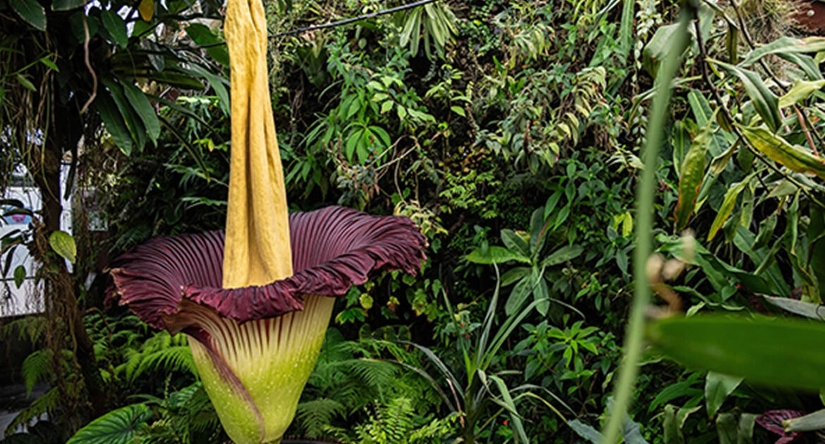
[(742, 134), (762, 154), (793, 172), (814, 174), (825, 180), (825, 160), (808, 153), (804, 149), (789, 144), (778, 135), (764, 128), (741, 126)]

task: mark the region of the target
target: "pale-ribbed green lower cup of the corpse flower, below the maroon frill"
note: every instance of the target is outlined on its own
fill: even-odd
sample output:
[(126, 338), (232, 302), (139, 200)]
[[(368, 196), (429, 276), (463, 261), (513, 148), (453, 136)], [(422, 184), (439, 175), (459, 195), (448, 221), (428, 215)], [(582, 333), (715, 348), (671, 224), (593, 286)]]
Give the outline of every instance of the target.
[(334, 302), (308, 295), (302, 311), (241, 325), (198, 314), (214, 353), (192, 339), (192, 356), (233, 442), (281, 441), (318, 359)]

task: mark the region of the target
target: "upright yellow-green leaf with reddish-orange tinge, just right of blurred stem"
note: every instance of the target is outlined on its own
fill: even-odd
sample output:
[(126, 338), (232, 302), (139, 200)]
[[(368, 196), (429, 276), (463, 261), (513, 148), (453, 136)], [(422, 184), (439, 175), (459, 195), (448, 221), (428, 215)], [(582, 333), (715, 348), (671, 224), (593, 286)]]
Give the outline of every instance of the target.
[(676, 203), (676, 211), (673, 217), (676, 219), (676, 231), (681, 231), (691, 219), (691, 214), (696, 205), (696, 198), (699, 197), (699, 187), (705, 177), (706, 153), (710, 141), (714, 137), (711, 130), (714, 119), (708, 119), (691, 142), (691, 148), (685, 155), (685, 160), (681, 163), (681, 177), (679, 179), (679, 201)]

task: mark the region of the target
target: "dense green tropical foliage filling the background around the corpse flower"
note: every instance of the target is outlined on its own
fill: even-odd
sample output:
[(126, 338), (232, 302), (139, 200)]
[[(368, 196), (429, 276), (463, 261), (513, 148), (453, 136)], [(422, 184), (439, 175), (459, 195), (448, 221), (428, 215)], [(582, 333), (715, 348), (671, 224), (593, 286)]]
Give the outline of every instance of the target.
[[(105, 306), (101, 267), (147, 239), (224, 226), (222, 12), (46, 3), (0, 0), (0, 186), (22, 166), (59, 189), (40, 160), (52, 153), (73, 165), (68, 194), (93, 197), (75, 199), (68, 239), (49, 242), (54, 205), (2, 239), (0, 265), (29, 248), (43, 265), (23, 276), (51, 289), (44, 316), (3, 326), (35, 346), (18, 380), (50, 387), (6, 439), (226, 440), (186, 339)], [(825, 39), (795, 21), (804, 12), (441, 1), (283, 34), (401, 4), (267, 4), (292, 210), (407, 215), (428, 241), (418, 276), (337, 300), (287, 436), (599, 442), (617, 418), (629, 443), (820, 439)], [(106, 234), (88, 229), (91, 208)], [(634, 305), (637, 288), (653, 299)], [(635, 313), (643, 343), (627, 339)], [(629, 350), (625, 416), (615, 384)]]

